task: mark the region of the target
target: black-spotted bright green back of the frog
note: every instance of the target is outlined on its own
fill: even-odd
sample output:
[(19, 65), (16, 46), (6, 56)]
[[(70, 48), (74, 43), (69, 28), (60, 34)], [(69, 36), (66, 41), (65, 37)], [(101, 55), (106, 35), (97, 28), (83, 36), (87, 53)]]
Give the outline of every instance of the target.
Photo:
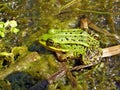
[[(55, 43), (85, 47), (99, 47), (99, 41), (81, 29), (54, 30), (50, 37)], [(72, 46), (73, 47), (73, 46)]]

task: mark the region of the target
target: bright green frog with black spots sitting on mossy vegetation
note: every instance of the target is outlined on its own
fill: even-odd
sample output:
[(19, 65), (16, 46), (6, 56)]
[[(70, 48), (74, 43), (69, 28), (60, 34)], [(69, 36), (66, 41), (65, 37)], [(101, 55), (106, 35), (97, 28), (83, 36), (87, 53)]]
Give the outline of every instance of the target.
[(100, 62), (102, 49), (95, 35), (82, 29), (50, 29), (39, 38), (39, 43), (56, 53), (61, 62), (80, 59), (82, 65)]

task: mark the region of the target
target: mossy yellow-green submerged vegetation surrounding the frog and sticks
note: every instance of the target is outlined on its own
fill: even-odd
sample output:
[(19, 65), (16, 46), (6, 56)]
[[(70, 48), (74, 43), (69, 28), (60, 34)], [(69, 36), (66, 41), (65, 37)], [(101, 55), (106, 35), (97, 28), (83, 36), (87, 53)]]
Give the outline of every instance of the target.
[[(38, 37), (51, 28), (79, 28), (82, 15), (97, 26), (91, 25), (90, 28), (99, 35), (101, 47), (119, 44), (118, 6), (118, 0), (0, 1), (0, 90), (29, 90), (58, 71), (60, 62), (39, 45)], [(120, 89), (120, 56), (103, 58), (101, 64), (73, 72), (73, 75), (78, 90)], [(63, 76), (48, 89), (73, 88), (68, 78)]]

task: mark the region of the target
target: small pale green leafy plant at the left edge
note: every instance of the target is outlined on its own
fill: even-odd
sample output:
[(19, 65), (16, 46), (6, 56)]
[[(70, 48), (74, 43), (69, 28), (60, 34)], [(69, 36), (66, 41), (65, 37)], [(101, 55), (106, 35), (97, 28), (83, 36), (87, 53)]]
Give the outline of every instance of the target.
[(7, 22), (0, 22), (0, 37), (5, 37), (7, 33), (15, 33), (19, 32), (17, 27), (17, 22), (15, 20), (7, 21)]

